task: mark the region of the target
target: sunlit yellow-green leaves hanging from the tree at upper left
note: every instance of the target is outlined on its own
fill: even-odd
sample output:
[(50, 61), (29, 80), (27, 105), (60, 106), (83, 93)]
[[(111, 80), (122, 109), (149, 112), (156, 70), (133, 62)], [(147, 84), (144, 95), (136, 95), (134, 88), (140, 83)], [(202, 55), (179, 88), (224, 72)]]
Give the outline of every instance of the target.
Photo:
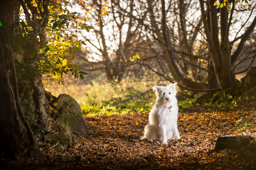
[[(72, 52), (82, 49), (80, 47), (82, 44), (86, 45), (84, 41), (76, 40), (76, 35), (74, 35), (78, 29), (89, 31), (90, 27), (85, 23), (86, 20), (80, 20), (77, 12), (70, 12), (70, 4), (66, 0), (56, 0), (50, 3), (32, 0), (30, 5), (27, 4), (36, 27), (27, 19), (28, 9), (22, 8), (20, 15), (25, 13), (26, 18), (21, 19), (19, 31), (22, 33), (22, 41), (31, 41), (37, 36), (37, 44), (43, 47), (34, 49), (36, 53), (33, 52), (30, 55), (36, 56), (39, 64), (36, 69), (40, 71), (40, 74), (46, 75), (43, 78), (44, 84), (52, 80), (58, 80), (63, 84), (62, 76), (69, 72), (75, 78), (78, 76), (83, 78), (86, 72), (74, 63), (75, 55)], [(47, 22), (45, 27), (43, 27), (44, 22)], [(29, 48), (31, 47), (24, 47), (20, 53), (26, 53)]]

